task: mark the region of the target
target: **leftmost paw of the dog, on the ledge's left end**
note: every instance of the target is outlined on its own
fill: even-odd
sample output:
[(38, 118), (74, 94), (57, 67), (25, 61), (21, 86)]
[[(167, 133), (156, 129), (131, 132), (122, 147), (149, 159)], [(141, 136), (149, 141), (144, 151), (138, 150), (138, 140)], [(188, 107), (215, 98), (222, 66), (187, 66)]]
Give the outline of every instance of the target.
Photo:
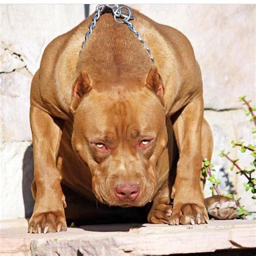
[(66, 231), (66, 219), (63, 211), (35, 213), (29, 220), (29, 233), (47, 233)]

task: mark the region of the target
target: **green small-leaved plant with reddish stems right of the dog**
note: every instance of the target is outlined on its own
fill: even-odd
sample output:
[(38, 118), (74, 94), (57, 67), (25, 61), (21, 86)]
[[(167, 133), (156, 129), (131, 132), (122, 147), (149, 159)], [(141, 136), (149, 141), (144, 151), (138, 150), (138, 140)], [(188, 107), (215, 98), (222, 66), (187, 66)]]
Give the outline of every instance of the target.
[[(245, 96), (242, 96), (239, 98), (240, 102), (243, 102), (243, 105), (246, 105), (247, 108), (245, 109), (245, 113), (246, 116), (249, 116), (251, 114), (251, 118), (250, 121), (254, 123), (254, 126), (252, 128), (252, 134), (256, 133), (256, 116), (254, 114), (254, 111), (256, 111), (256, 106), (253, 105), (251, 106), (251, 100), (247, 101), (245, 99)], [(253, 139), (255, 139), (256, 136), (253, 136)], [(239, 150), (242, 153), (250, 153), (253, 160), (251, 162), (251, 169), (248, 169), (246, 166), (244, 168), (241, 168), (238, 165), (238, 161), (239, 159), (231, 159), (228, 154), (230, 152), (225, 152), (224, 150), (222, 150), (219, 154), (220, 157), (225, 157), (228, 161), (231, 162), (231, 166), (230, 166), (230, 170), (233, 171), (234, 169), (237, 169), (237, 174), (239, 174), (240, 176), (245, 176), (247, 178), (247, 183), (244, 183), (245, 186), (245, 190), (246, 191), (251, 191), (252, 192), (252, 198), (256, 199), (256, 179), (252, 177), (252, 174), (255, 172), (256, 169), (256, 145), (252, 145), (252, 144), (248, 144), (245, 145), (245, 142), (234, 142), (234, 140), (232, 140), (231, 142), (232, 147), (238, 147)], [(210, 187), (212, 194), (214, 195), (215, 193), (217, 194), (221, 194), (218, 185), (221, 183), (221, 181), (217, 178), (215, 178), (215, 175), (212, 174), (212, 171), (214, 170), (214, 165), (210, 163), (210, 161), (208, 161), (207, 158), (202, 158), (203, 160), (203, 168), (202, 168), (202, 173), (204, 177), (207, 177), (208, 180), (210, 180), (210, 182), (212, 183), (212, 186)], [(230, 197), (233, 198), (232, 194), (223, 194), (223, 196), (226, 197)], [(239, 200), (241, 198), (238, 198), (237, 200), (235, 200), (237, 206), (238, 206), (238, 219), (246, 219), (246, 216), (251, 215), (251, 212), (247, 212), (244, 209), (244, 205), (240, 205)]]

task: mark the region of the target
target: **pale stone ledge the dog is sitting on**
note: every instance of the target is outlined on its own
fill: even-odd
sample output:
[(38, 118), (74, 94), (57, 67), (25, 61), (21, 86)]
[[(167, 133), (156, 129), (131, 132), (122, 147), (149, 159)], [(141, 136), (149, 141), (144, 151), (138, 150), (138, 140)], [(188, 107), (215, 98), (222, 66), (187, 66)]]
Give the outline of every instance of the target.
[(1, 255), (159, 255), (256, 247), (254, 220), (211, 220), (195, 226), (86, 225), (48, 234), (26, 233), (24, 220), (5, 222), (0, 230)]

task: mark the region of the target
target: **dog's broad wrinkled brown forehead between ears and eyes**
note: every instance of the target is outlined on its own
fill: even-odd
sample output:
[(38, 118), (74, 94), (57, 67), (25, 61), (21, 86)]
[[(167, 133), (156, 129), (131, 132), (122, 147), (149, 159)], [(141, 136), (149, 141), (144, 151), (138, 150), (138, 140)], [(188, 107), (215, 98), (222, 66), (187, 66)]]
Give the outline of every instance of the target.
[[(137, 136), (138, 132), (157, 130), (165, 118), (163, 106), (151, 92), (136, 92), (127, 95), (120, 93), (93, 92), (86, 96), (82, 106), (86, 126), (104, 132), (105, 127), (114, 131), (122, 130)], [(92, 128), (91, 127), (91, 128)]]

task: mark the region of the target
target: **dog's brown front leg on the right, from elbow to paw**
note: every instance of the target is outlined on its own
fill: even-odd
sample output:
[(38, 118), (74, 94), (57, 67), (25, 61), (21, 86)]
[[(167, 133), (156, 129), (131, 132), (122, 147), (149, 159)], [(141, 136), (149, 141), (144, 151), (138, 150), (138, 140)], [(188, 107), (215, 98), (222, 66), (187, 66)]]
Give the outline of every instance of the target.
[(173, 123), (179, 149), (177, 176), (172, 188), (172, 215), (169, 224), (204, 224), (208, 214), (200, 187), (201, 127), (203, 96), (194, 97)]

